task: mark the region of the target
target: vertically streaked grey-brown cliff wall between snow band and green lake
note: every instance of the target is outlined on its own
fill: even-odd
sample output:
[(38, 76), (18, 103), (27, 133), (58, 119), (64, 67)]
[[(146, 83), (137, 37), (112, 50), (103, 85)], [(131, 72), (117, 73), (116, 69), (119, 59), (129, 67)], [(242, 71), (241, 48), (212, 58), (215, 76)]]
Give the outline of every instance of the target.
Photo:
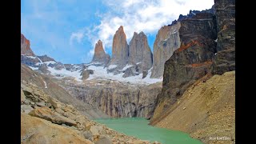
[(110, 80), (60, 84), (82, 102), (97, 106), (114, 118), (150, 117), (153, 114), (155, 99), (162, 89), (162, 83), (135, 86)]

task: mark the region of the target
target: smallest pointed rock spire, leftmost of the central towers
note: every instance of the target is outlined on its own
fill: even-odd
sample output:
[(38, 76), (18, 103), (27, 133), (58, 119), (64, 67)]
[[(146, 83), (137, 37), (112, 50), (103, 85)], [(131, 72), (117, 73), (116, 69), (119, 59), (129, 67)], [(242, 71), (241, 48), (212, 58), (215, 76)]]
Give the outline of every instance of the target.
[(94, 58), (92, 60), (92, 63), (101, 63), (106, 65), (108, 64), (108, 62), (110, 62), (110, 55), (105, 53), (102, 41), (98, 40), (98, 42), (95, 45)]

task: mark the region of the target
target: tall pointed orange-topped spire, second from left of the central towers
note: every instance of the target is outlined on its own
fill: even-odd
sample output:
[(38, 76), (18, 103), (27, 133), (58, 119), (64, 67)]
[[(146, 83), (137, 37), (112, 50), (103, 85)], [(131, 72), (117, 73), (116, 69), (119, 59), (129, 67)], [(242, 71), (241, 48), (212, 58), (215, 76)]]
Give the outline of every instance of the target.
[(120, 26), (114, 34), (110, 65), (117, 65), (118, 68), (126, 66), (128, 62), (128, 53), (126, 34), (123, 30), (123, 26)]

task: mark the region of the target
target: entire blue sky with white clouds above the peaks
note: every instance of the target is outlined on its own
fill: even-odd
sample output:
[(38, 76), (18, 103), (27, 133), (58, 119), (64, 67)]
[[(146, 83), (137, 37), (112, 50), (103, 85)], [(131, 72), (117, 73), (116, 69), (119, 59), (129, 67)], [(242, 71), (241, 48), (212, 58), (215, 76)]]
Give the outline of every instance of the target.
[(162, 26), (179, 14), (213, 5), (214, 0), (22, 0), (21, 32), (37, 55), (88, 63), (98, 39), (111, 55), (112, 38), (121, 25), (128, 43), (134, 31), (143, 31), (153, 51)]

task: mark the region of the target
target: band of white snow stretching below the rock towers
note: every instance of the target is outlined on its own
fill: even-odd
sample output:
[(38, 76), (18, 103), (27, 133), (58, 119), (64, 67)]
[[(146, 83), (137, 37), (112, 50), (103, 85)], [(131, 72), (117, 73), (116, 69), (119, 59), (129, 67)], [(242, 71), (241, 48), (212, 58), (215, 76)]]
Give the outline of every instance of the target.
[[(152, 84), (156, 82), (162, 82), (162, 78), (150, 78), (152, 69), (148, 70), (146, 78), (142, 78), (142, 74), (123, 78), (122, 75), (125, 73), (125, 70), (131, 66), (127, 65), (123, 68), (121, 73), (114, 74), (110, 72), (110, 69), (114, 69), (116, 65), (110, 65), (108, 67), (99, 65), (97, 63), (64, 65), (61, 62), (56, 62), (54, 59), (50, 58), (48, 61), (46, 61), (45, 59), (40, 59), (41, 57), (38, 56), (31, 57), (22, 55), (22, 57), (26, 57), (26, 62), (23, 63), (29, 66), (32, 70), (36, 70), (42, 74), (51, 74), (55, 78), (71, 77), (74, 78), (74, 80), (77, 82), (83, 82), (92, 79), (114, 80), (130, 84)], [(34, 61), (34, 59), (37, 61)], [(82, 80), (81, 73), (83, 70), (94, 70), (94, 74), (90, 74), (89, 78)]]

